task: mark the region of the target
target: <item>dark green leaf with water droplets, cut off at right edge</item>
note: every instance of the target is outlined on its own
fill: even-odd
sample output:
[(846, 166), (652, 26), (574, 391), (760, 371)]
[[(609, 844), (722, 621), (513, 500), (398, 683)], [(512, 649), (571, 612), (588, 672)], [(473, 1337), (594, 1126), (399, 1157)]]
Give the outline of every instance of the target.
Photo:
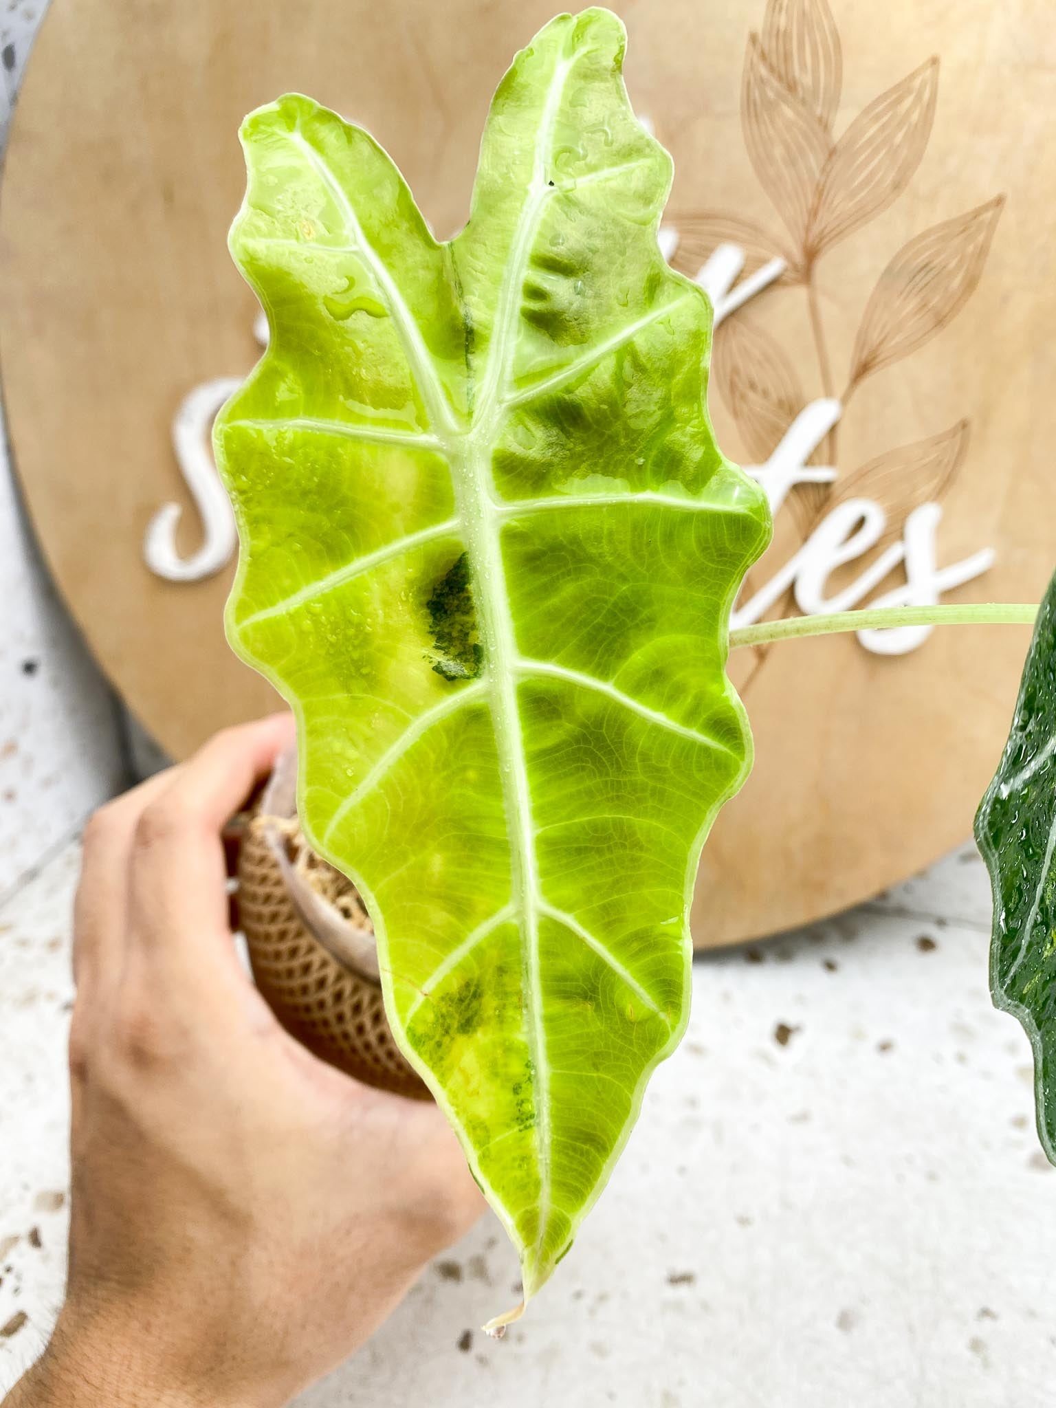
[(990, 986), (1033, 1046), (1038, 1135), (1056, 1163), (1056, 577), (1038, 610), (1001, 762), (976, 814), (994, 888)]

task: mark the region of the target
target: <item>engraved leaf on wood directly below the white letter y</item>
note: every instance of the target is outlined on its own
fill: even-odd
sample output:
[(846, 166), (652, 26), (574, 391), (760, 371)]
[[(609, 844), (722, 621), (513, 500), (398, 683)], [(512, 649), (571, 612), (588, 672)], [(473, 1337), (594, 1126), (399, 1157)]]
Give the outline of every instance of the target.
[(752, 459), (773, 455), (804, 407), (796, 372), (780, 344), (750, 318), (727, 318), (715, 334), (712, 384)]

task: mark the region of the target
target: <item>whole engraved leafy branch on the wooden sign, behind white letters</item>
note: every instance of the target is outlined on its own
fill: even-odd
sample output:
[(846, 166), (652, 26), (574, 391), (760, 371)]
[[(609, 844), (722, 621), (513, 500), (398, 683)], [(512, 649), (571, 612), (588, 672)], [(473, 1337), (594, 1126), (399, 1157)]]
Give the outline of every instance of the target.
[[(841, 104), (846, 106), (843, 62), (828, 0), (767, 0), (759, 32), (748, 37), (741, 93), (745, 148), (794, 249), (784, 248), (788, 237), (777, 239), (767, 232), (755, 211), (687, 211), (677, 217), (687, 231), (677, 266), (690, 276), (718, 245), (735, 244), (745, 251), (748, 275), (779, 255), (787, 263), (780, 283), (804, 290), (814, 377), (801, 348), (790, 356), (741, 308), (722, 321), (715, 339), (711, 377), (735, 421), (745, 458), (755, 462), (773, 455), (811, 400), (839, 397), (846, 413), (862, 380), (908, 358), (957, 315), (983, 275), (1004, 206), (1004, 197), (995, 196), (903, 245), (866, 300), (842, 376), (834, 366), (826, 327), (836, 300), (825, 297), (831, 289), (822, 284), (819, 269), (829, 251), (867, 227), (908, 187), (931, 138), (939, 77), (939, 59), (928, 58), (841, 121)], [(842, 414), (808, 463), (839, 470), (838, 436), (846, 420)], [(912, 508), (949, 491), (967, 453), (969, 429), (967, 420), (959, 420), (907, 445), (877, 446), (879, 453), (850, 474), (838, 473), (835, 484), (797, 483), (786, 504), (800, 534), (805, 539), (836, 504), (869, 497), (887, 520), (879, 546), (890, 545)], [(777, 614), (786, 608), (787, 600), (774, 604)]]

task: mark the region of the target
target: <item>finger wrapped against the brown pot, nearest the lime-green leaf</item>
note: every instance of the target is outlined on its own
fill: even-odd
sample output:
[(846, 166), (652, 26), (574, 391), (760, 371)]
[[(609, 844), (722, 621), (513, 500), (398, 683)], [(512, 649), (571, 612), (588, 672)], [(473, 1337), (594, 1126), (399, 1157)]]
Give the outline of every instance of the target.
[(196, 986), (220, 973), (245, 981), (232, 945), (221, 942), (230, 936), (221, 831), (291, 736), (289, 714), (225, 729), (144, 810), (131, 860), (130, 946), (166, 973), (196, 974)]

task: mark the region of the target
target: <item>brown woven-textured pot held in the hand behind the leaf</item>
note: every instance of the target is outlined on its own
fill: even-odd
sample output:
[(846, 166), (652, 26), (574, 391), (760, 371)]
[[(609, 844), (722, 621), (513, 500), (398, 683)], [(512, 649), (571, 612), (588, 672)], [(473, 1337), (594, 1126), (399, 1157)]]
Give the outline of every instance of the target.
[(400, 1095), (428, 1100), (389, 1028), (377, 948), (355, 886), (297, 824), (297, 759), (284, 755), (248, 819), (238, 910), (253, 979), (287, 1032), (321, 1060)]

